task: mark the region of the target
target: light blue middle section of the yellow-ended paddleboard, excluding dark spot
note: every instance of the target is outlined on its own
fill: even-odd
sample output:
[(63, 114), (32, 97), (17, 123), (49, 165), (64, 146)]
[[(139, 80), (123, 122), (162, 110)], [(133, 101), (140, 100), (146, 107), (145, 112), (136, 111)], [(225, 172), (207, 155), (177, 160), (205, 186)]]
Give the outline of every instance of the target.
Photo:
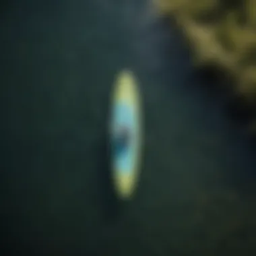
[[(133, 108), (125, 103), (115, 104), (113, 108), (113, 137), (111, 138), (113, 164), (115, 170), (125, 173), (133, 170), (137, 151), (137, 123), (133, 111)], [(116, 138), (119, 127), (123, 126), (129, 129), (131, 137), (127, 147), (120, 149)]]

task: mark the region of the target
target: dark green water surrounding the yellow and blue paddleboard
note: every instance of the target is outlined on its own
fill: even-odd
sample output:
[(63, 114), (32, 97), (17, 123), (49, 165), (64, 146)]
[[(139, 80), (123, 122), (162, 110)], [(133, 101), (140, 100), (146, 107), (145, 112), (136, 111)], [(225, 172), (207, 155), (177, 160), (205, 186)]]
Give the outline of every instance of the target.
[[(255, 255), (255, 152), (146, 1), (20, 1), (1, 14), (1, 255)], [(137, 195), (120, 205), (106, 125), (127, 66), (145, 147)]]

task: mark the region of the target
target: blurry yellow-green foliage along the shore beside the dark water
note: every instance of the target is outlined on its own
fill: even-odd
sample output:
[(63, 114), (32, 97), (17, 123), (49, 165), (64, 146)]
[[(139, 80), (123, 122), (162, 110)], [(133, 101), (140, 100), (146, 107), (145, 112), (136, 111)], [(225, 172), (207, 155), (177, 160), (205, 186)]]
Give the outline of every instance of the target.
[(181, 26), (194, 62), (223, 69), (236, 81), (232, 93), (256, 110), (256, 0), (156, 1)]

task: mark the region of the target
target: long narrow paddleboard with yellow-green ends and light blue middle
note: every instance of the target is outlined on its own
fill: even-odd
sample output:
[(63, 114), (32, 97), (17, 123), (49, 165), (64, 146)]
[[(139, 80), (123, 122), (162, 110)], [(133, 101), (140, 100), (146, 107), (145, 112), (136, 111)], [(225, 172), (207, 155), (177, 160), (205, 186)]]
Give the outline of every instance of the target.
[(130, 199), (137, 187), (141, 158), (141, 100), (131, 71), (119, 73), (112, 96), (110, 157), (113, 185), (117, 197)]

